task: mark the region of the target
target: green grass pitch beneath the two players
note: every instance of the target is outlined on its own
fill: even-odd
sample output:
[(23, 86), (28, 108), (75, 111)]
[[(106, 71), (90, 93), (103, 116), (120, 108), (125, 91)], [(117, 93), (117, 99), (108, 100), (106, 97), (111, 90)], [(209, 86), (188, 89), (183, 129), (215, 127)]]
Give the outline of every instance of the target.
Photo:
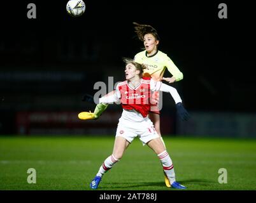
[[(164, 136), (176, 179), (188, 190), (255, 190), (256, 141)], [(1, 136), (0, 190), (90, 190), (114, 136)], [(36, 169), (36, 184), (27, 169)], [(218, 169), (227, 169), (227, 184)], [(136, 138), (99, 190), (171, 190), (157, 155)]]

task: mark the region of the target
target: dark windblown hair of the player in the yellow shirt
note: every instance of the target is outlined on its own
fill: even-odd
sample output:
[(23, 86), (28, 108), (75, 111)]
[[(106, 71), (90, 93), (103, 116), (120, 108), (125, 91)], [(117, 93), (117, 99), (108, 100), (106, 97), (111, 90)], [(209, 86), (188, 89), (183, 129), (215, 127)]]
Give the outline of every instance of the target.
[(136, 34), (138, 35), (139, 40), (144, 41), (145, 34), (152, 34), (155, 37), (155, 39), (160, 41), (160, 37), (157, 34), (157, 30), (155, 30), (152, 26), (141, 25), (136, 22), (133, 22), (133, 24), (135, 25), (134, 29)]

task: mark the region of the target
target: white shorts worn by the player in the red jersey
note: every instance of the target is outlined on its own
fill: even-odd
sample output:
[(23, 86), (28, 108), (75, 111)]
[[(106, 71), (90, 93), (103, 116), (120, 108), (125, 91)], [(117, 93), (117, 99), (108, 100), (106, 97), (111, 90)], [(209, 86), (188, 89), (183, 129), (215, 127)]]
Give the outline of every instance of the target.
[(150, 140), (160, 137), (153, 127), (153, 122), (150, 121), (148, 117), (141, 122), (131, 122), (120, 119), (117, 126), (116, 136), (122, 136), (125, 140), (129, 141), (129, 143), (138, 136), (143, 145)]

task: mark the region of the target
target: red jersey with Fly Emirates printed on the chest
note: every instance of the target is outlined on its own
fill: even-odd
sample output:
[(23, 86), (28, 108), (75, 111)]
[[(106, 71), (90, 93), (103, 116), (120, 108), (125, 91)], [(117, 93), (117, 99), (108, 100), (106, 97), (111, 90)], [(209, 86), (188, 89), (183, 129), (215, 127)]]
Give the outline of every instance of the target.
[(126, 110), (136, 110), (143, 117), (150, 111), (150, 77), (142, 77), (141, 82), (133, 88), (127, 81), (120, 82), (117, 89), (120, 92), (122, 107)]

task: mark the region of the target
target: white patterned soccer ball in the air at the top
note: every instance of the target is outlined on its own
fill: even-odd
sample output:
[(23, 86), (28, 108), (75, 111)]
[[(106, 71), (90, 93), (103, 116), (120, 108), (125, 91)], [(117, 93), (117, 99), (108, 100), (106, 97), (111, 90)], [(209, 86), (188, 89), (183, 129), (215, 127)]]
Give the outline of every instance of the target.
[(69, 15), (78, 17), (85, 13), (85, 3), (82, 0), (69, 0), (66, 9)]

